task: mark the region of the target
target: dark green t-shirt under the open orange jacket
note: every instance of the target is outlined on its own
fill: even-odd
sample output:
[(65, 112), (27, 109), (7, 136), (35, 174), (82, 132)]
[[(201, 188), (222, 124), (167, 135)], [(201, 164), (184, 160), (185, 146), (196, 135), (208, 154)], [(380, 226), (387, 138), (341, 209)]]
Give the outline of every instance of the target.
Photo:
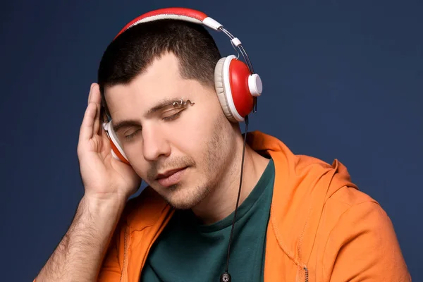
[[(274, 186), (270, 159), (250, 195), (238, 207), (228, 272), (232, 281), (263, 281), (266, 228)], [(233, 213), (211, 225), (199, 225), (191, 211), (176, 211), (159, 235), (140, 281), (219, 281), (225, 271)]]

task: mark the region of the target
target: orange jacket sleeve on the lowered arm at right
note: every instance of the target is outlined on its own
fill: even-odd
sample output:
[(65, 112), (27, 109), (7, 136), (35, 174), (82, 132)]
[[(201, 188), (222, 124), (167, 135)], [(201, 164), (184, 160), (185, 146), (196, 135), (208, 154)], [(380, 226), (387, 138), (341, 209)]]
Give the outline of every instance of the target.
[(354, 204), (341, 215), (323, 261), (324, 281), (411, 281), (391, 220), (373, 201)]

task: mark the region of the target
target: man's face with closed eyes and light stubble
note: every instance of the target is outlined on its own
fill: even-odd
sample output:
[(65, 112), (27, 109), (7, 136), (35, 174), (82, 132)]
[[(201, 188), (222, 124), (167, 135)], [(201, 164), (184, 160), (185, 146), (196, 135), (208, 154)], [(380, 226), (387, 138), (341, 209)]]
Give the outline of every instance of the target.
[[(176, 56), (165, 54), (130, 84), (109, 87), (106, 99), (131, 166), (167, 202), (192, 208), (219, 185), (235, 135), (216, 92), (181, 78)], [(181, 99), (185, 105), (173, 105)]]

